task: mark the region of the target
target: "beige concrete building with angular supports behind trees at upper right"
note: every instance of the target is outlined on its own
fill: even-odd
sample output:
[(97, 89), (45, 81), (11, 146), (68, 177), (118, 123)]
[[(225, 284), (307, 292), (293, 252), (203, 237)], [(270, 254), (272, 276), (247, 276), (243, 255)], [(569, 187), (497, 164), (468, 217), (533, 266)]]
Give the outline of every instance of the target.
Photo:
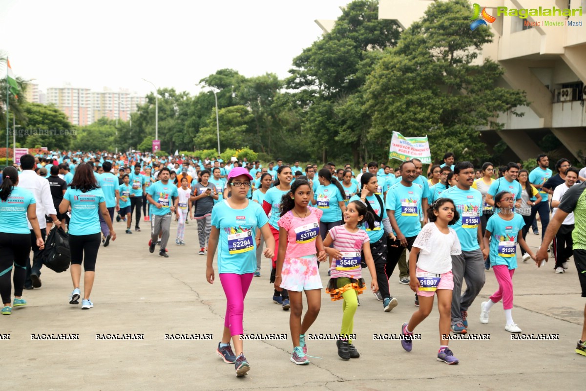
[[(537, 146), (546, 134), (554, 134), (575, 158), (586, 156), (586, 0), (476, 0), (495, 16), (490, 28), (495, 37), (482, 47), (479, 62), (492, 59), (505, 74), (502, 87), (524, 90), (529, 107), (523, 117), (511, 113), (499, 116), (502, 131), (483, 130), (488, 140), (504, 140), (520, 159), (536, 157)], [(430, 0), (379, 0), (379, 19), (396, 20), (403, 28), (423, 16)], [(471, 4), (473, 1), (471, 2)], [(507, 9), (582, 8), (582, 16), (498, 15)], [(472, 5), (471, 5), (472, 9)], [(561, 12), (560, 12), (561, 14)], [(547, 23), (545, 23), (547, 21)], [(490, 144), (490, 143), (489, 143)]]

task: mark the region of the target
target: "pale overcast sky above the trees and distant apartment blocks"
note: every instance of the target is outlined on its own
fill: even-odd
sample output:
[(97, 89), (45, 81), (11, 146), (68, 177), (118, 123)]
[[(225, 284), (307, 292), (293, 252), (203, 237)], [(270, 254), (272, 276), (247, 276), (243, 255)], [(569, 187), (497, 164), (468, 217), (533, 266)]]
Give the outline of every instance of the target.
[[(0, 50), (40, 89), (152, 86), (197, 93), (222, 68), (288, 76), (293, 57), (321, 36), (347, 0), (0, 0)], [(4, 64), (0, 77), (5, 77)]]

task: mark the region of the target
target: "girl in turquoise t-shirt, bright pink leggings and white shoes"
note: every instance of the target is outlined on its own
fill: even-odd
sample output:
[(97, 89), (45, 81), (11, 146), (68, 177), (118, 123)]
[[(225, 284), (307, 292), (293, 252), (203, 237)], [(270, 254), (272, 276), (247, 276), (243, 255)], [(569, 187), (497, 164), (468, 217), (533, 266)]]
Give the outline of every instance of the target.
[[(509, 192), (500, 192), (495, 195), (495, 213), (486, 223), (484, 246), (490, 246), (490, 264), (495, 272), (499, 289), (490, 296), (488, 301), (481, 303), (480, 321), (488, 323), (490, 308), (503, 300), (506, 325), (508, 332), (521, 332), (519, 326), (513, 322), (513, 273), (517, 268), (517, 243), (535, 260), (535, 254), (529, 249), (523, 239), (523, 216), (513, 212), (515, 195)], [(489, 244), (490, 242), (490, 244)], [(536, 261), (537, 262), (537, 261)]]

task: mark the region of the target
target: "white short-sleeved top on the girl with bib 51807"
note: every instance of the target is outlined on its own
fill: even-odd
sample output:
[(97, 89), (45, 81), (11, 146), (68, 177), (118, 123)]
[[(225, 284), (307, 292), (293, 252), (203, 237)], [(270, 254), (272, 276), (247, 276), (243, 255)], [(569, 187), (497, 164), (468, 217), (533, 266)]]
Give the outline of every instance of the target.
[(448, 228), (448, 234), (442, 233), (435, 223), (427, 223), (421, 229), (413, 243), (413, 247), (421, 249), (417, 267), (435, 274), (452, 270), (451, 256), (461, 254), (462, 248), (455, 230)]

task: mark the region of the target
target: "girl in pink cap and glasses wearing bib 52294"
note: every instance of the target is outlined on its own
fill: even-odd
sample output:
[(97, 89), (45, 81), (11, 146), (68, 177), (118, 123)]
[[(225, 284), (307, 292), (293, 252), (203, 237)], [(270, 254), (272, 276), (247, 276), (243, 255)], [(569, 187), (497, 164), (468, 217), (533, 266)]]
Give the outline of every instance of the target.
[[(214, 283), (213, 260), (218, 251), (218, 274), (226, 294), (226, 317), (222, 341), (216, 353), (224, 362), (234, 363), (236, 376), (246, 376), (250, 364), (244, 357), (240, 335), (243, 334), (244, 297), (256, 270), (256, 244), (254, 237), (260, 229), (267, 248), (264, 256), (272, 258), (275, 240), (268, 226), (267, 215), (256, 202), (247, 199), (250, 181), (253, 179), (246, 168), (236, 167), (227, 176), (230, 197), (212, 209), (212, 232), (207, 252), (206, 280)], [(234, 342), (236, 355), (230, 346)]]

